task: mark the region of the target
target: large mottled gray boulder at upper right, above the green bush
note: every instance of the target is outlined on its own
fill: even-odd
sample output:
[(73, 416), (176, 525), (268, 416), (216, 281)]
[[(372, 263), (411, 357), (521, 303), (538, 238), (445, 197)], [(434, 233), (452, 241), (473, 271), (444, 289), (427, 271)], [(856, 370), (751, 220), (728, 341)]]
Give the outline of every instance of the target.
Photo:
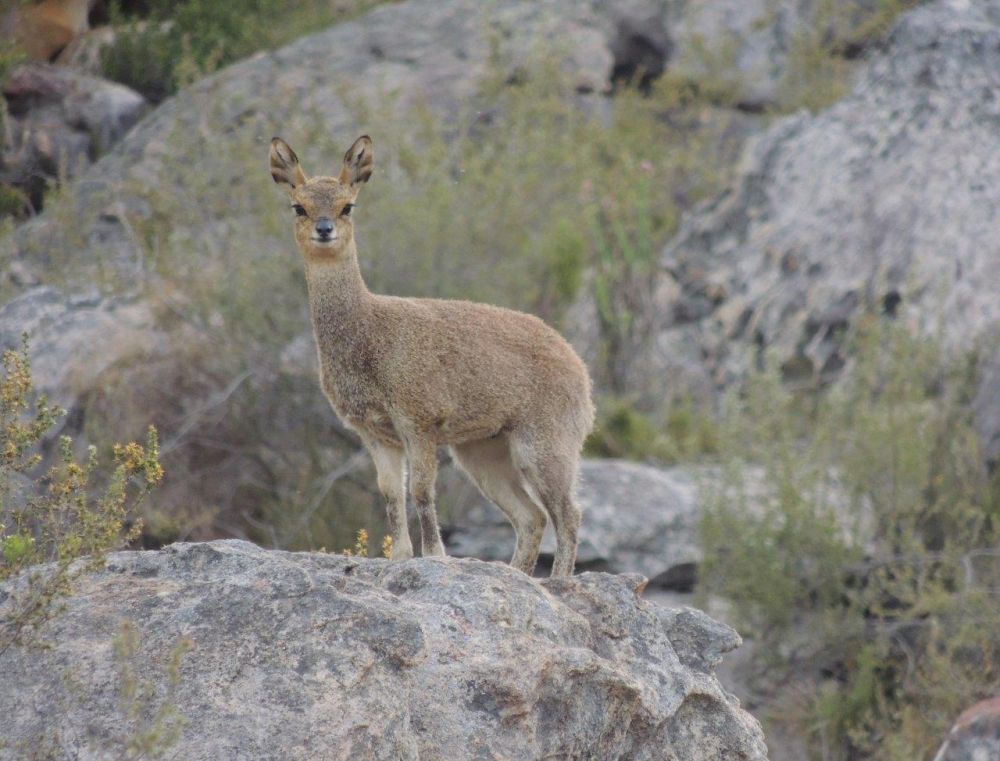
[(969, 346), (1000, 318), (1000, 2), (904, 15), (852, 93), (777, 122), (666, 246), (628, 385), (830, 376), (864, 309)]

